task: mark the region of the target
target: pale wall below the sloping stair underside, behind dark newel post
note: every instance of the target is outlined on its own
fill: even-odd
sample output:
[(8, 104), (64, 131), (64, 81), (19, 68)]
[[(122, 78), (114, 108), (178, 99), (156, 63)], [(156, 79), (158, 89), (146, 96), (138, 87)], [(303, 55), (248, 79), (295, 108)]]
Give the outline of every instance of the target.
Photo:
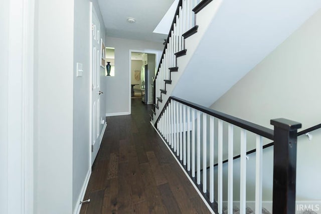
[[(279, 117), (301, 122), (302, 129), (319, 124), (320, 22), (319, 10), (211, 108), (269, 128), (272, 128), (270, 119)], [(321, 186), (314, 185), (321, 173), (313, 168), (320, 162), (321, 133), (317, 130), (312, 134), (312, 141), (306, 137), (298, 141), (296, 199), (299, 200), (321, 199)]]

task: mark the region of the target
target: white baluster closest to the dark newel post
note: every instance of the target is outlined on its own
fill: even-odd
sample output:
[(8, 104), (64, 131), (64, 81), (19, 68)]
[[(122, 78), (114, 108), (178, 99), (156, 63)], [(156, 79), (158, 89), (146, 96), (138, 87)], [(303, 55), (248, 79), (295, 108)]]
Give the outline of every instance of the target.
[(262, 211), (263, 140), (256, 135), (255, 213)]

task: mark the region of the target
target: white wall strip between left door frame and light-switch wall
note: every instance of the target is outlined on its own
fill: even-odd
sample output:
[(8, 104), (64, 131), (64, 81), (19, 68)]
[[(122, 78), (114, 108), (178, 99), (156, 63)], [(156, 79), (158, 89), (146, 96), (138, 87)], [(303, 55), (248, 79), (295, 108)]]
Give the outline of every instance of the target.
[(35, 213), (72, 213), (74, 1), (35, 16)]

